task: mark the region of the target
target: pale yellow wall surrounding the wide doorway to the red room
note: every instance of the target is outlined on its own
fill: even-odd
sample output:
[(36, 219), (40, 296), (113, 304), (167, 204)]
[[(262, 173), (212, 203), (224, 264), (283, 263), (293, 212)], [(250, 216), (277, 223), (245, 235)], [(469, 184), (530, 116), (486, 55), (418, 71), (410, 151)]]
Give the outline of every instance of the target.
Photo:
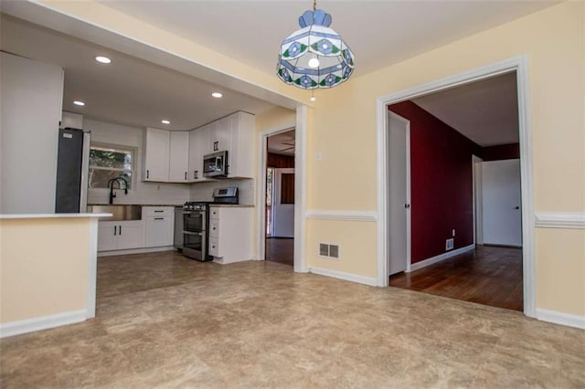
[[(335, 92), (322, 93), (315, 108), (310, 152), (322, 151), (323, 161), (308, 159), (312, 172), (307, 187), (309, 208), (321, 210), (376, 209), (376, 99), (431, 80), (516, 56), (527, 56), (529, 110), (533, 135), (537, 212), (585, 211), (585, 131), (582, 2), (556, 5), (512, 23), (440, 47), (397, 65), (352, 79)], [(351, 222), (336, 222), (335, 228)], [(356, 227), (358, 223), (354, 223)], [(308, 221), (312, 239), (328, 232)], [(332, 226), (333, 228), (334, 226)], [(582, 234), (558, 230), (537, 234), (537, 307), (583, 315)], [(343, 247), (375, 247), (374, 234), (337, 238)], [(558, 264), (556, 242), (566, 247), (565, 267)], [(322, 261), (307, 244), (307, 260)], [(338, 269), (371, 276), (375, 257), (344, 258)], [(572, 273), (572, 277), (565, 277)], [(562, 285), (562, 287), (560, 287)], [(557, 288), (558, 286), (558, 288)]]

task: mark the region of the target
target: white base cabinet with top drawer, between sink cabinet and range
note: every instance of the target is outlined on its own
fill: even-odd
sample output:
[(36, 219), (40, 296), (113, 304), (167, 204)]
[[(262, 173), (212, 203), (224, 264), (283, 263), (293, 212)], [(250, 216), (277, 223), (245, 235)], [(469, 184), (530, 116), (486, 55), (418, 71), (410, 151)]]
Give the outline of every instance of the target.
[(144, 247), (173, 246), (175, 207), (143, 206)]

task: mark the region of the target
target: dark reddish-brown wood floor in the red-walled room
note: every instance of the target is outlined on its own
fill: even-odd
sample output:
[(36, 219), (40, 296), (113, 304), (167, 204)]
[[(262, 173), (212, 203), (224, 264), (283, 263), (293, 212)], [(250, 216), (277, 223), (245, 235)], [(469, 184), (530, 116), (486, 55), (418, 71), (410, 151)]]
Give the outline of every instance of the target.
[(412, 273), (391, 276), (390, 286), (508, 310), (523, 310), (522, 249), (479, 246)]

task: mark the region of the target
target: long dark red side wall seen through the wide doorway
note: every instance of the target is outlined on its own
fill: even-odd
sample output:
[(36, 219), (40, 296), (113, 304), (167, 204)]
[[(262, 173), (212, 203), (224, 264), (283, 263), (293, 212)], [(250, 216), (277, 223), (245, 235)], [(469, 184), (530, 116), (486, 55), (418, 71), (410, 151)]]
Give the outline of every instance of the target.
[(410, 120), (411, 263), (473, 244), (472, 154), (481, 147), (411, 101), (388, 107)]

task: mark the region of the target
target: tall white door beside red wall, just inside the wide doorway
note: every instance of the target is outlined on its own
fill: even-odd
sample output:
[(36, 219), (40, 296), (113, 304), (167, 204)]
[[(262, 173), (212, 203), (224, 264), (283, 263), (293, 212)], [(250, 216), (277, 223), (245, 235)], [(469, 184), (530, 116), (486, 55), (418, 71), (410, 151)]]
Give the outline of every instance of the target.
[(410, 121), (388, 112), (388, 275), (410, 269)]

